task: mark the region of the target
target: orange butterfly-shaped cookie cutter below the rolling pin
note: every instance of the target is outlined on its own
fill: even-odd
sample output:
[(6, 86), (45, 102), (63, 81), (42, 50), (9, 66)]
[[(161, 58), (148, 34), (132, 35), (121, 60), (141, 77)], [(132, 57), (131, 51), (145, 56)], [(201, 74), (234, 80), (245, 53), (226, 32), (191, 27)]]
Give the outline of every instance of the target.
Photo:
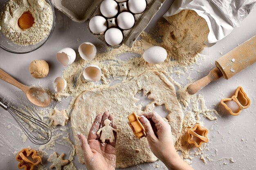
[[(232, 111), (232, 109), (229, 108), (229, 106), (227, 106), (227, 104), (225, 104), (226, 101), (234, 101), (234, 102), (236, 102), (236, 104), (238, 105), (238, 110), (236, 111), (236, 113), (234, 113)], [(237, 116), (237, 115), (239, 115), (242, 112), (243, 109), (248, 108), (250, 106), (251, 100), (249, 99), (249, 97), (245, 93), (243, 87), (238, 86), (234, 96), (232, 96), (231, 98), (222, 99), (220, 101), (220, 103), (225, 107), (226, 110), (229, 111), (229, 113), (231, 115)]]

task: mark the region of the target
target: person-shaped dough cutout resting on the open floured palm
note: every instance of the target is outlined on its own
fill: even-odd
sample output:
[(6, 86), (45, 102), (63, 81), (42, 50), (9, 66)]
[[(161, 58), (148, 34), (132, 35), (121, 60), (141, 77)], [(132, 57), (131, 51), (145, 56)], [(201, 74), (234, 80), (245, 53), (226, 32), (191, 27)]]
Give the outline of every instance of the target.
[(114, 129), (110, 126), (110, 122), (111, 121), (109, 119), (106, 119), (104, 121), (105, 126), (103, 128), (100, 128), (98, 130), (98, 132), (96, 133), (97, 135), (99, 135), (100, 132), (101, 132), (101, 138), (100, 139), (101, 139), (102, 143), (104, 143), (106, 140), (109, 140), (110, 143), (112, 143), (115, 139), (113, 131), (119, 132), (119, 130)]

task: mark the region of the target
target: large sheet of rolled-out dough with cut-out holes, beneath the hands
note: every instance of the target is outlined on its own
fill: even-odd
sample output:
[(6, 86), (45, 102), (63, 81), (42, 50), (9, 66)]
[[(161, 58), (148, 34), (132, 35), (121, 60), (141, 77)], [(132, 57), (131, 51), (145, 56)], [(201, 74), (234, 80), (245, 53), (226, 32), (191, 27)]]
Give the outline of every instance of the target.
[[(141, 110), (141, 105), (135, 105), (138, 101), (135, 96), (142, 89), (144, 95), (149, 94), (148, 98), (153, 99), (153, 102), (148, 104), (144, 111)], [(171, 124), (175, 142), (180, 136), (184, 116), (173, 84), (163, 73), (157, 70), (146, 71), (122, 84), (116, 84), (108, 88), (95, 88), (79, 95), (71, 116), (73, 133), (81, 132), (87, 136), (94, 117), (98, 113), (109, 110), (115, 115), (117, 129), (120, 131), (117, 133), (116, 144), (117, 168), (153, 162), (157, 160), (157, 157), (150, 151), (146, 138), (137, 139), (135, 137), (129, 127), (127, 116), (132, 112), (140, 115), (144, 112), (153, 111), (155, 105), (160, 106), (162, 104), (165, 104), (169, 111), (166, 118)], [(81, 142), (77, 135), (74, 135), (74, 137), (79, 162), (84, 163)]]

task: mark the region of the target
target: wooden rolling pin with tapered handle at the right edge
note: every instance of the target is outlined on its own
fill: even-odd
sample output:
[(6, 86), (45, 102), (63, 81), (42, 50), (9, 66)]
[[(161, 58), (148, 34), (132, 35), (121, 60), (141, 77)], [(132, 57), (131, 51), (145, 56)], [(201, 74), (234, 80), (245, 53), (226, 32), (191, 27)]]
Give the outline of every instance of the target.
[(190, 84), (187, 87), (187, 92), (190, 95), (193, 95), (210, 82), (213, 82), (222, 76), (225, 79), (229, 79), (255, 62), (256, 35), (216, 60), (216, 68), (213, 68), (207, 76)]

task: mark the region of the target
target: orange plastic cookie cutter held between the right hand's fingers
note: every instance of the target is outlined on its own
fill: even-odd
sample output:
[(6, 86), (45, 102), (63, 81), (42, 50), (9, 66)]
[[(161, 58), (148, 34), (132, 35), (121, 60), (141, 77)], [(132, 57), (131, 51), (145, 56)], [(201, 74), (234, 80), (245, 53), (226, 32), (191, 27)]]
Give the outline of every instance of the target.
[(132, 129), (132, 132), (134, 135), (140, 139), (142, 137), (146, 137), (146, 132), (144, 127), (139, 121), (139, 116), (137, 116), (134, 112), (128, 116), (128, 120), (130, 121), (129, 125)]

